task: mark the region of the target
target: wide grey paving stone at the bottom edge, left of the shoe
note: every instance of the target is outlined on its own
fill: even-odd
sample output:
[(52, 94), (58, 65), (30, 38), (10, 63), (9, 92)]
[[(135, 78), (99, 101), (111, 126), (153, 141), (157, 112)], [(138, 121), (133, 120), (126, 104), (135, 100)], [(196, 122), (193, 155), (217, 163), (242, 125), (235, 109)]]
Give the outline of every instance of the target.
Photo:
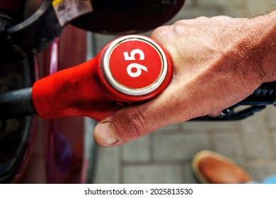
[(126, 165), (123, 173), (124, 183), (181, 183), (180, 165)]

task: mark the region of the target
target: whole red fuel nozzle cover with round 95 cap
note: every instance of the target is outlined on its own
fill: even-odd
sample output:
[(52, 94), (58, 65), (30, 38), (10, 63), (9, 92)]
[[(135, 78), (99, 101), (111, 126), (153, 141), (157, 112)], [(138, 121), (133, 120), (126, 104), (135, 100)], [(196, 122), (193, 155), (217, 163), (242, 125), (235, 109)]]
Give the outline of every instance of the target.
[(128, 35), (90, 61), (35, 82), (33, 105), (45, 119), (81, 115), (102, 120), (122, 106), (154, 98), (172, 74), (171, 58), (160, 45)]

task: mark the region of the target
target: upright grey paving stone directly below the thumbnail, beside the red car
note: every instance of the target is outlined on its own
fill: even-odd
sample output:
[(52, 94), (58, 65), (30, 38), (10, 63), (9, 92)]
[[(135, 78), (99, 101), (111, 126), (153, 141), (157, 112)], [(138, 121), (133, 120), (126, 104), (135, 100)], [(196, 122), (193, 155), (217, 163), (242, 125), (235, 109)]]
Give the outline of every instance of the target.
[(99, 147), (96, 163), (96, 183), (120, 182), (120, 146)]

